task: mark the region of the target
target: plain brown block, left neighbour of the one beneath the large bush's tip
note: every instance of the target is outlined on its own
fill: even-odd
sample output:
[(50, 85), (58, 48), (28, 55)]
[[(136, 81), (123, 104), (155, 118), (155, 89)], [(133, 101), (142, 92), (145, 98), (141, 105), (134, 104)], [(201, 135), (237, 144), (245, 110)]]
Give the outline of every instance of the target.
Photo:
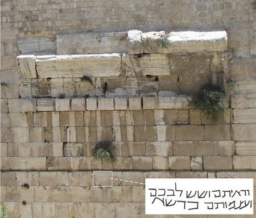
[(204, 140), (204, 127), (203, 125), (178, 125), (176, 128), (176, 140)]

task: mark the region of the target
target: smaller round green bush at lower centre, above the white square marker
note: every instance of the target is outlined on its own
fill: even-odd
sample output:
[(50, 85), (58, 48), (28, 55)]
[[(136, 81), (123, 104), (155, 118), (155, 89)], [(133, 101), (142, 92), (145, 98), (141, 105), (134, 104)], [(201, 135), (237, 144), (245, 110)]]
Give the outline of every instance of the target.
[(113, 151), (114, 148), (112, 142), (100, 141), (95, 146), (93, 156), (97, 160), (109, 160), (110, 162), (115, 162)]

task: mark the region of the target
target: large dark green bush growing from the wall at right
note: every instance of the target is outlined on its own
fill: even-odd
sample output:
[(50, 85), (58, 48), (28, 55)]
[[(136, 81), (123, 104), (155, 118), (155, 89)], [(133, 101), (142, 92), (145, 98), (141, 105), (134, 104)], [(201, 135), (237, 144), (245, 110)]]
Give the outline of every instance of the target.
[(204, 85), (199, 93), (193, 96), (191, 106), (201, 108), (205, 116), (217, 123), (219, 116), (224, 114), (224, 99), (226, 95), (220, 86)]

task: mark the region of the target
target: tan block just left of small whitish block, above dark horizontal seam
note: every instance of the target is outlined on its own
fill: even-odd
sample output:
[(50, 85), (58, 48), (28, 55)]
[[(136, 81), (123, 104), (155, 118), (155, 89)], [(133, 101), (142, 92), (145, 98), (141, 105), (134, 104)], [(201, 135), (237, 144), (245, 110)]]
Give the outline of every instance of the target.
[(170, 170), (191, 170), (191, 158), (186, 156), (169, 156)]

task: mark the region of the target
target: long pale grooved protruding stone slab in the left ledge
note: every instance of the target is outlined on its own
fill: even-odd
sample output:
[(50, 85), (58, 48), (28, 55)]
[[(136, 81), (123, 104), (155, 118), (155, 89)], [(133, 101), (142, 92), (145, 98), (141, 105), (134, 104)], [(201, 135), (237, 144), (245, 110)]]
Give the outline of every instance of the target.
[(120, 54), (36, 56), (40, 78), (110, 77), (121, 73)]

